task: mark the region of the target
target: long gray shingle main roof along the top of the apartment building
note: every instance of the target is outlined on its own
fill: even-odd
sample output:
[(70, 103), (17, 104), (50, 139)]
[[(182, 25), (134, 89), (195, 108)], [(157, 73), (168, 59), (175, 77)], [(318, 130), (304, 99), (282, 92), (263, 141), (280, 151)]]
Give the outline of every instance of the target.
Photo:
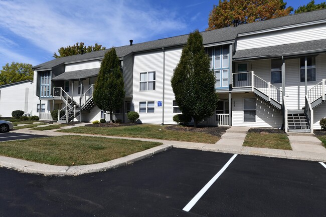
[[(221, 43), (221, 42), (235, 40), (237, 35), (241, 33), (255, 32), (255, 31), (273, 29), (273, 28), (278, 28), (283, 26), (302, 24), (302, 23), (308, 23), (312, 21), (319, 21), (325, 19), (326, 19), (326, 9), (323, 9), (323, 10), (318, 10), (318, 11), (313, 11), (308, 13), (289, 15), (289, 16), (275, 18), (267, 21), (240, 25), (238, 27), (227, 27), (218, 30), (206, 31), (206, 32), (202, 32), (201, 34), (203, 36), (203, 44), (207, 45), (207, 44)], [(182, 36), (176, 36), (176, 37), (171, 37), (166, 39), (159, 39), (155, 41), (134, 44), (133, 46), (116, 47), (116, 52), (118, 57), (124, 57), (125, 55), (130, 54), (131, 52), (139, 52), (145, 50), (158, 49), (162, 47), (166, 48), (166, 47), (184, 45), (187, 43), (188, 36), (189, 35), (182, 35)], [(37, 70), (42, 70), (42, 69), (53, 68), (65, 62), (87, 60), (92, 58), (100, 59), (104, 56), (107, 50), (108, 49), (86, 53), (83, 55), (62, 57), (34, 66), (33, 68)]]

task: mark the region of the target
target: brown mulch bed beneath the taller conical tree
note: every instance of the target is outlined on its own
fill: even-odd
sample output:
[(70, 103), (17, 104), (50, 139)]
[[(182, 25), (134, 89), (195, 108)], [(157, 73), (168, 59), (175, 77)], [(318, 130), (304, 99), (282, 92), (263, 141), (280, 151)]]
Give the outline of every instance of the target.
[(193, 127), (193, 126), (180, 126), (180, 125), (171, 125), (167, 126), (167, 130), (176, 130), (176, 131), (185, 131), (185, 132), (201, 132), (201, 133), (208, 133), (213, 136), (221, 137), (227, 129), (230, 127)]

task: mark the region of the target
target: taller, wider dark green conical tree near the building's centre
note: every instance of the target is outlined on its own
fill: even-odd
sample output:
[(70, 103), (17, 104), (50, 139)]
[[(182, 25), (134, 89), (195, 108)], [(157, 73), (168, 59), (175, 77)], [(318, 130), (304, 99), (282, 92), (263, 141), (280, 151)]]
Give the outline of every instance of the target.
[(189, 35), (171, 85), (180, 110), (194, 119), (195, 127), (214, 114), (218, 101), (215, 76), (198, 30)]

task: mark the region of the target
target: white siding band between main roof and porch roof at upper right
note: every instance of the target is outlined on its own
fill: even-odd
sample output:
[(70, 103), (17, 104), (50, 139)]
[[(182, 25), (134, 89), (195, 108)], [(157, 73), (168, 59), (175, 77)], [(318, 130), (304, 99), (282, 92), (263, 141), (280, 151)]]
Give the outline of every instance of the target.
[(321, 39), (326, 39), (326, 24), (240, 36), (237, 40), (236, 50), (240, 51)]

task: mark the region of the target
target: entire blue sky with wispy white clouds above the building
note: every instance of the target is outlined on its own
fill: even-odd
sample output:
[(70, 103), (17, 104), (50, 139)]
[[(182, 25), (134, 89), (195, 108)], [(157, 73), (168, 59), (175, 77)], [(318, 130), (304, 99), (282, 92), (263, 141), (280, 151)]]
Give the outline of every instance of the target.
[[(284, 2), (295, 10), (309, 0)], [(76, 42), (111, 48), (205, 31), (214, 4), (218, 0), (0, 0), (0, 69), (50, 61)]]

